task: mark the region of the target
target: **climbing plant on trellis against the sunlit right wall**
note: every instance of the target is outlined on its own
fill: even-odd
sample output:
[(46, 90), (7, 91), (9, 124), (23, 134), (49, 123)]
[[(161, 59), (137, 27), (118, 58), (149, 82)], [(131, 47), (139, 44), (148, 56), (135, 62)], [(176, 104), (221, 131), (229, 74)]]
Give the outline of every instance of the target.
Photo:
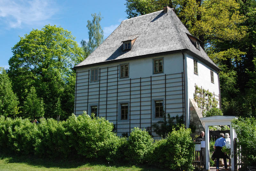
[(201, 109), (202, 114), (213, 107), (217, 107), (218, 101), (215, 99), (214, 95), (203, 88), (195, 86), (194, 100), (197, 103), (197, 106)]

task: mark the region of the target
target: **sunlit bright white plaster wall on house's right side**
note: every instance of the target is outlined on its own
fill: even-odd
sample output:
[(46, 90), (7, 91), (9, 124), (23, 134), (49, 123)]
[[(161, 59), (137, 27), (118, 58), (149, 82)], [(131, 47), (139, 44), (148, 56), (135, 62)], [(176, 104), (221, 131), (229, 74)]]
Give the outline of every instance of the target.
[[(185, 55), (185, 62), (186, 62), (186, 86), (187, 86), (187, 99), (186, 102), (189, 104), (189, 98), (194, 99), (195, 93), (195, 84), (203, 89), (208, 89), (211, 93), (218, 95), (219, 92), (219, 81), (218, 81), (218, 74), (216, 69), (210, 67), (210, 65), (205, 64), (202, 60), (189, 53), (184, 53)], [(194, 74), (194, 59), (197, 60), (197, 70), (198, 75)], [(214, 83), (211, 82), (211, 73), (210, 70), (213, 71), (213, 78)], [(215, 96), (217, 98), (217, 96)], [(219, 103), (219, 101), (218, 101)], [(219, 104), (217, 106), (219, 108)], [(187, 113), (189, 113), (189, 109), (187, 108)], [(188, 117), (189, 115), (187, 115)], [(187, 118), (189, 121), (189, 118)], [(189, 123), (188, 123), (189, 125)], [(187, 125), (187, 126), (188, 126)]]

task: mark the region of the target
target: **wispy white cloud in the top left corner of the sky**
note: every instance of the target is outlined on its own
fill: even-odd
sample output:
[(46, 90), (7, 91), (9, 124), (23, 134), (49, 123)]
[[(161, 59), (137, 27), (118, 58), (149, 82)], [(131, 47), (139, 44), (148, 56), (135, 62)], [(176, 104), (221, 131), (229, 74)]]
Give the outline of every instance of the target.
[(0, 0), (0, 19), (11, 28), (40, 24), (58, 9), (49, 0)]

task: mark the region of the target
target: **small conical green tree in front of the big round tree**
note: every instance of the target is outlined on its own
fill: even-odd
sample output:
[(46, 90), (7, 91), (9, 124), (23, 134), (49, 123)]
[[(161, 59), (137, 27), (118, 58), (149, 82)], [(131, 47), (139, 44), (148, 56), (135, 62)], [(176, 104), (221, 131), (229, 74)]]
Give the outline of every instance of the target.
[(23, 118), (36, 119), (44, 116), (44, 102), (43, 98), (38, 98), (35, 87), (31, 87), (24, 101)]

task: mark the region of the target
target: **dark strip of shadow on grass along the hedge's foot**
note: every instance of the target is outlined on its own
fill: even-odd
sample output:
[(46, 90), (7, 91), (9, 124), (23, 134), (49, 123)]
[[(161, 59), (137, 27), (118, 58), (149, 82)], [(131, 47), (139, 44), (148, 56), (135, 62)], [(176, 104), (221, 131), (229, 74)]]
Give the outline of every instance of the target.
[[(82, 157), (78, 157), (78, 159), (72, 159), (72, 160), (58, 160), (58, 159), (45, 159), (45, 158), (36, 158), (34, 156), (19, 156), (16, 154), (6, 154), (6, 153), (0, 153), (0, 160), (5, 160), (8, 163), (25, 163), (27, 165), (33, 166), (33, 167), (45, 167), (45, 168), (51, 168), (51, 167), (57, 167), (57, 168), (63, 168), (63, 169), (70, 169), (70, 168), (77, 168), (81, 166), (106, 166), (106, 167), (137, 167), (140, 169), (140, 171), (168, 171), (168, 169), (160, 169), (157, 167), (151, 167), (148, 165), (132, 165), (127, 163), (115, 163), (111, 164), (111, 162), (108, 163), (108, 161), (105, 160), (93, 160), (93, 159), (85, 159)], [(130, 170), (129, 168), (127, 168)]]

